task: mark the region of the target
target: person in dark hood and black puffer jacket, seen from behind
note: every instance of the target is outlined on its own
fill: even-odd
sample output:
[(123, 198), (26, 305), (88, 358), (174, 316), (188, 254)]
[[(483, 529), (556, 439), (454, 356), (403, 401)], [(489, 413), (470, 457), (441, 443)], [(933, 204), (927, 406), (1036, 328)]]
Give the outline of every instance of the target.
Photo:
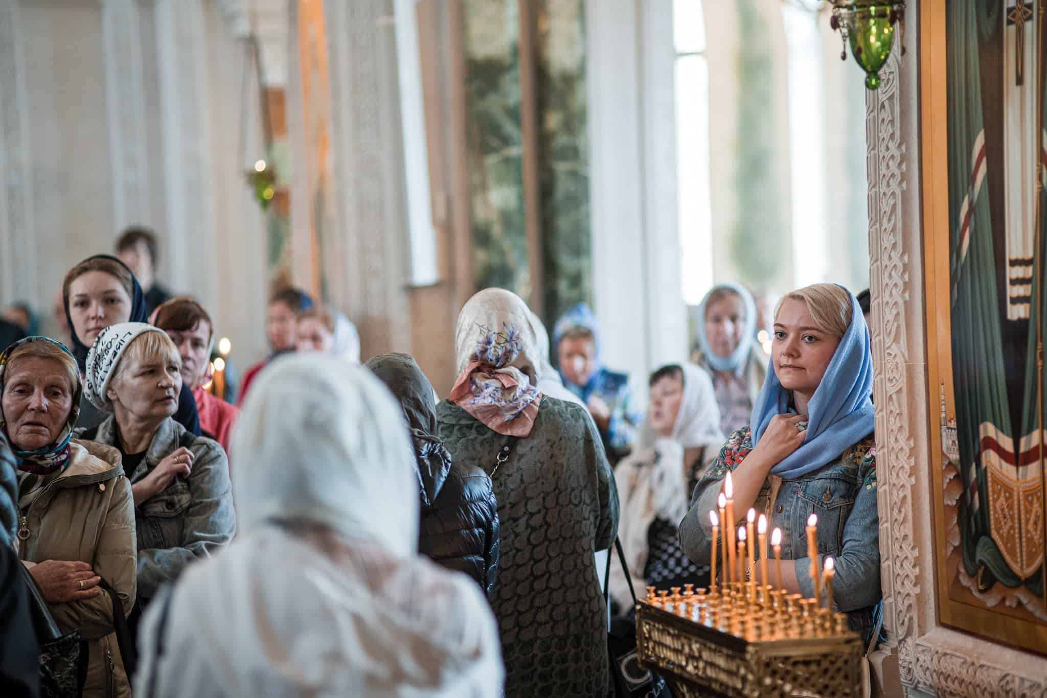
[(490, 594), (498, 570), (498, 505), (491, 478), (475, 466), (454, 463), (433, 435), (436, 393), (415, 359), (383, 354), (364, 365), (393, 392), (410, 427), (422, 504), (419, 553), (465, 572)]

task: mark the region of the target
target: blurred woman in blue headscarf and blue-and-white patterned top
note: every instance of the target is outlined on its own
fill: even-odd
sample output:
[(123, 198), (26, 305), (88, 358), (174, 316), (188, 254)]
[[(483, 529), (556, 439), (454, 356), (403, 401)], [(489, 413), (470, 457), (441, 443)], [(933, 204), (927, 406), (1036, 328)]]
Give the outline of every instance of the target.
[(628, 375), (603, 365), (600, 329), (588, 306), (578, 303), (556, 321), (553, 346), (563, 386), (584, 403), (607, 458), (617, 464), (632, 449), (643, 414), (632, 404)]

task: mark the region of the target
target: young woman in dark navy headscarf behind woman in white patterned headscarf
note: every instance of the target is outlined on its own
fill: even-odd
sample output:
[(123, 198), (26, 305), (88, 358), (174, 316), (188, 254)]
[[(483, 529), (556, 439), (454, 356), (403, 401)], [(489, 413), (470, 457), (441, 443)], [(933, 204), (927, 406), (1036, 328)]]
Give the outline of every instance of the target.
[[(118, 322), (148, 322), (146, 295), (127, 265), (109, 254), (89, 256), (66, 274), (62, 301), (72, 335), (72, 355), (83, 374), (87, 354), (95, 338), (106, 328)], [(106, 414), (87, 400), (81, 405), (76, 427), (88, 429), (81, 438), (92, 440), (94, 428)], [(175, 421), (195, 435), (200, 435), (200, 414), (191, 386), (183, 384), (178, 396)]]

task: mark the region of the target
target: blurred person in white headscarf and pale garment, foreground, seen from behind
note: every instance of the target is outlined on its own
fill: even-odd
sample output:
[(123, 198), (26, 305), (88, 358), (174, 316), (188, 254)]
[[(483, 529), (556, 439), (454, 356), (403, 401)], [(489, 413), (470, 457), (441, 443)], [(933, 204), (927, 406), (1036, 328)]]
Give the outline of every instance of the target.
[(414, 455), (378, 379), (277, 359), (231, 450), (241, 535), (185, 570), (163, 623), (169, 594), (150, 605), (136, 697), (500, 695), (487, 601), (417, 555)]

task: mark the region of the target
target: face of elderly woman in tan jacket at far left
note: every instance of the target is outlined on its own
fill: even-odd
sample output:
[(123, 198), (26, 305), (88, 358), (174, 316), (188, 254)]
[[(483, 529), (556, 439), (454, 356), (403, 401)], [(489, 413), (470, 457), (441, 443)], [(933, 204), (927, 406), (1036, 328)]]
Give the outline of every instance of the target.
[(72, 411), (73, 386), (60, 361), (22, 357), (7, 366), (2, 403), (7, 437), (21, 451), (58, 441)]

